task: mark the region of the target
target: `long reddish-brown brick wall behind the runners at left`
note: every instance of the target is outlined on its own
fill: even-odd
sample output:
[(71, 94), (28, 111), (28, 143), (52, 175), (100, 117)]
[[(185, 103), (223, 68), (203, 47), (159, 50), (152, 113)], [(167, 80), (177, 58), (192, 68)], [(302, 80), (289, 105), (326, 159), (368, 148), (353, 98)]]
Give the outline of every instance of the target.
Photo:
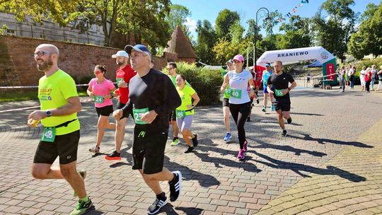
[[(108, 72), (106, 77), (115, 81), (115, 70), (117, 64), (111, 55), (118, 50), (95, 45), (83, 45), (71, 42), (59, 42), (40, 40), (24, 37), (0, 37), (0, 86), (36, 86), (38, 80), (43, 76), (42, 71), (37, 71), (33, 52), (42, 43), (50, 43), (59, 49), (60, 69), (66, 71), (74, 79), (79, 80), (93, 76), (96, 64), (106, 65)], [(176, 61), (176, 54), (169, 54)], [(6, 58), (4, 58), (6, 57)], [(154, 57), (155, 69), (161, 70), (167, 62), (172, 59), (165, 57)]]

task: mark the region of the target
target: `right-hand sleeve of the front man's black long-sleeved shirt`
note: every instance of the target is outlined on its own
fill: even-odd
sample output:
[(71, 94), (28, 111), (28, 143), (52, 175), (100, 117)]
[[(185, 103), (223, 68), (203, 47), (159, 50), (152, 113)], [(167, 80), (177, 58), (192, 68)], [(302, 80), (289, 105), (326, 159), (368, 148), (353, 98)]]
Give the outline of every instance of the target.
[(168, 76), (163, 77), (163, 85), (161, 86), (163, 89), (163, 105), (155, 108), (155, 112), (158, 115), (168, 115), (175, 108), (178, 108), (182, 104), (182, 100), (180, 100), (178, 91), (176, 91), (173, 82), (168, 78)]

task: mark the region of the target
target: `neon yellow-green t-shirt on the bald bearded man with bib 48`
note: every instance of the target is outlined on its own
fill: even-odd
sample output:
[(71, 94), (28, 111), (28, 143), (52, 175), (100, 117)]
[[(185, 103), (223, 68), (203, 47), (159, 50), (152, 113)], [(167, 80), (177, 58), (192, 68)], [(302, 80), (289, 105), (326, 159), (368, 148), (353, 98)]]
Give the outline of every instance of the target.
[[(77, 94), (74, 79), (66, 72), (59, 69), (52, 76), (42, 76), (38, 81), (38, 99), (40, 100), (41, 110), (60, 108), (68, 103), (67, 99), (79, 96)], [(77, 113), (63, 116), (46, 117), (41, 120), (44, 127), (54, 127), (64, 122), (77, 119)], [(67, 127), (56, 129), (56, 135), (69, 134), (80, 129), (79, 120), (70, 122)]]

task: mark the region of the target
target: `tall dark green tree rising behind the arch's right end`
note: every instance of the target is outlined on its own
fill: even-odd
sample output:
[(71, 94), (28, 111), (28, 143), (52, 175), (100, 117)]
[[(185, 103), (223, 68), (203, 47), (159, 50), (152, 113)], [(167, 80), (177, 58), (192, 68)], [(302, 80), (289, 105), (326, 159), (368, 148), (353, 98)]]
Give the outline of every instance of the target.
[[(342, 60), (345, 59), (347, 43), (354, 32), (358, 17), (358, 14), (350, 8), (352, 5), (354, 5), (353, 0), (327, 0), (313, 18), (313, 30), (318, 45), (325, 47)], [(321, 16), (322, 11), (328, 13), (326, 18)]]

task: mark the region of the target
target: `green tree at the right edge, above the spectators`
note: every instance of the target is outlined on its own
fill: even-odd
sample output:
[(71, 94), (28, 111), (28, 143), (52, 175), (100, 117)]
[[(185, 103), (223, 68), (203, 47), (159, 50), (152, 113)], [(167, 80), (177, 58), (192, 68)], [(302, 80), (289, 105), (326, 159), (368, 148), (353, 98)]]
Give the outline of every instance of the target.
[(357, 33), (353, 33), (349, 41), (349, 54), (355, 58), (361, 59), (364, 55), (382, 54), (382, 3), (375, 9), (374, 6), (368, 9), (362, 15), (365, 19)]

